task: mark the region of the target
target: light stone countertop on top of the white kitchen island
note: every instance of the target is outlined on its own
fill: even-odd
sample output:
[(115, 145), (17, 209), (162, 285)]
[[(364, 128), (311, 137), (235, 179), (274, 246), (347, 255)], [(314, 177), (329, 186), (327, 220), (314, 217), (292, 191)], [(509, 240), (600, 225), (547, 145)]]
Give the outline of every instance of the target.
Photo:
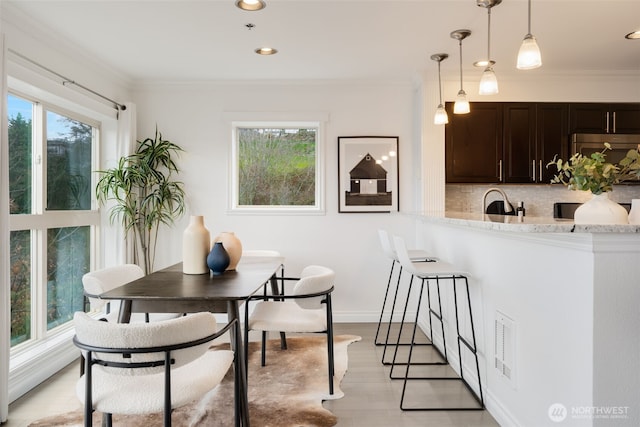
[(422, 213), (421, 220), (485, 230), (525, 233), (640, 233), (640, 225), (574, 224), (570, 219), (513, 215), (481, 215), (466, 212)]

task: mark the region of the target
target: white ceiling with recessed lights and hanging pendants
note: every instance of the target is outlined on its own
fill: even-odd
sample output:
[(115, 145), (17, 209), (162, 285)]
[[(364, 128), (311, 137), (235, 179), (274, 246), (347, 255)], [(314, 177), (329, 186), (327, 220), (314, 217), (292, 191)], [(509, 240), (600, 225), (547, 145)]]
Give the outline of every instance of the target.
[[(234, 0), (3, 0), (3, 8), (56, 34), (135, 81), (358, 79), (407, 80), (436, 69), (437, 52), (458, 70), (450, 32), (467, 28), (465, 69), (487, 54), (487, 10), (476, 0), (266, 0), (258, 12)], [(254, 24), (248, 29), (246, 24)], [(517, 73), (637, 73), (640, 0), (533, 0), (532, 33), (543, 67), (517, 71), (527, 1), (504, 0), (491, 13), (498, 76)], [(254, 49), (271, 46), (277, 55)], [(433, 67), (433, 68), (430, 68)], [(480, 73), (480, 71), (478, 71)]]

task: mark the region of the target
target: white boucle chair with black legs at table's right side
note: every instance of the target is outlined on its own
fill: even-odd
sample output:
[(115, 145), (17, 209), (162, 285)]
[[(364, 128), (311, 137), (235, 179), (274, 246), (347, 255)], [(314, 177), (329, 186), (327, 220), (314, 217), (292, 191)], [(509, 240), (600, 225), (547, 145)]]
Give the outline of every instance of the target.
[(335, 372), (331, 308), (334, 279), (335, 273), (330, 268), (319, 265), (305, 267), (291, 293), (254, 297), (262, 301), (256, 304), (251, 315), (248, 310), (245, 312), (244, 331), (245, 348), (249, 344), (249, 331), (265, 332), (262, 334), (262, 366), (266, 365), (266, 332), (327, 334), (329, 394), (333, 394)]

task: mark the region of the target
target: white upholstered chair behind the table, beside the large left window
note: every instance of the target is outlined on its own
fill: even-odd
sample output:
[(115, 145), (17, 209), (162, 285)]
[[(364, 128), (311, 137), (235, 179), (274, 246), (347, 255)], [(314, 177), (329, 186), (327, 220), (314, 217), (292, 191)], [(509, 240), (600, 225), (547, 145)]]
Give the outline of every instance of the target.
[[(118, 320), (119, 301), (107, 301), (94, 296), (122, 286), (144, 276), (142, 268), (135, 264), (124, 264), (92, 271), (82, 276), (84, 293), (89, 298), (91, 310), (105, 310), (105, 318), (109, 322)], [(132, 313), (130, 322), (149, 322), (173, 319), (181, 314), (176, 313)]]

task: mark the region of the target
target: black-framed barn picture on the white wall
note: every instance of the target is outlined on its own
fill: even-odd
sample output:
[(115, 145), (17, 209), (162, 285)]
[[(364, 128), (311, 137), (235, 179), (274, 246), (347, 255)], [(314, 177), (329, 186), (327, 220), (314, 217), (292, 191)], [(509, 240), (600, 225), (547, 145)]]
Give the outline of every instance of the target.
[(397, 212), (398, 137), (338, 137), (338, 212)]

